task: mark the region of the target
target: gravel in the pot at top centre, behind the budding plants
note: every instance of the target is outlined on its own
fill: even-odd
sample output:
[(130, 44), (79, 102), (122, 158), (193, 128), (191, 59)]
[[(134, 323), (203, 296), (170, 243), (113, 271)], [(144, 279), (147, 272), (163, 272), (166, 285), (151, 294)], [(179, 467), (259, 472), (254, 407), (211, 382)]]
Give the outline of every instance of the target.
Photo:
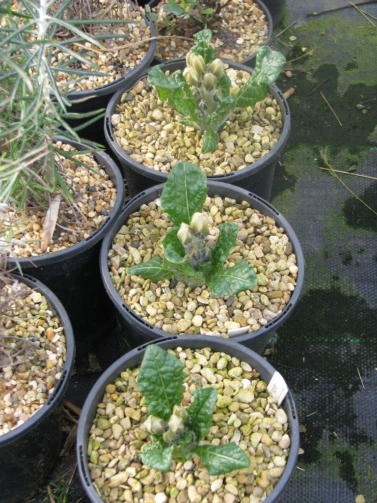
[[(225, 1), (222, 3), (224, 4)], [(163, 0), (152, 9), (153, 13), (160, 14), (157, 27), (161, 35), (167, 34), (165, 28), (167, 13), (162, 11), (162, 7), (167, 4)], [(174, 25), (176, 26), (173, 30), (171, 30), (170, 24), (168, 25), (171, 34), (187, 38), (192, 37), (193, 33), (201, 29), (199, 25), (195, 29), (190, 29), (190, 25), (187, 23), (177, 25), (173, 21)], [(252, 0), (246, 0), (246, 2), (231, 0), (221, 11), (220, 21), (211, 26), (211, 29), (214, 32), (212, 41), (218, 57), (231, 59), (238, 63), (252, 56), (256, 49), (265, 43), (268, 36), (268, 23), (265, 14)], [(181, 58), (193, 45), (192, 40), (161, 39), (157, 41), (156, 56), (164, 61)]]

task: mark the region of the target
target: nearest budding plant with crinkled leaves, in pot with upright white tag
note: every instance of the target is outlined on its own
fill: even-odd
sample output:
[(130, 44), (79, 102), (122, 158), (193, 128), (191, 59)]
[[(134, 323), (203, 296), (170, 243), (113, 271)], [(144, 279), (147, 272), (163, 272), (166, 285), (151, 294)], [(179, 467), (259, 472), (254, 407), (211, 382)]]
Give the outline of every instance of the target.
[(157, 345), (147, 347), (137, 385), (148, 405), (143, 428), (152, 441), (142, 449), (142, 462), (165, 472), (173, 458), (184, 462), (196, 454), (210, 475), (247, 468), (250, 460), (234, 442), (225, 445), (201, 442), (212, 426), (217, 391), (211, 386), (198, 388), (193, 392), (194, 401), (183, 407), (183, 381), (187, 377), (183, 368), (175, 355)]

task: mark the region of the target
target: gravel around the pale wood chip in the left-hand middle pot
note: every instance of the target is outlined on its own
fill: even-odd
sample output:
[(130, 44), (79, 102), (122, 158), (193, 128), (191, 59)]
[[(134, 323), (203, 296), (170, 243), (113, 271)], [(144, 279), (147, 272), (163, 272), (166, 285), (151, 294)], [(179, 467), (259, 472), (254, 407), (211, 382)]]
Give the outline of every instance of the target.
[[(74, 147), (62, 144), (61, 141), (56, 145), (61, 150), (76, 151)], [(18, 233), (15, 231), (15, 239), (25, 241), (22, 245), (13, 245), (12, 252), (17, 257), (53, 253), (86, 239), (101, 227), (114, 207), (117, 190), (102, 166), (95, 161), (93, 154), (89, 152), (74, 157), (84, 162), (90, 170), (68, 158), (57, 158), (75, 204), (61, 200), (57, 225), (51, 243), (45, 250), (41, 247), (41, 232), (46, 217), (44, 209), (5, 214), (4, 218), (14, 221), (15, 228), (19, 230)]]

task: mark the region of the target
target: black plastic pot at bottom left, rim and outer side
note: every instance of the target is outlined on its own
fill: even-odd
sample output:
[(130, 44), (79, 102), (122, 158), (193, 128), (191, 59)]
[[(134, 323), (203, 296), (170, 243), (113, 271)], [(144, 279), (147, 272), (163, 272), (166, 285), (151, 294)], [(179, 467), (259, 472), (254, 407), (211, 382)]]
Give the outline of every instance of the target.
[(61, 447), (63, 397), (75, 356), (72, 326), (59, 299), (30, 276), (14, 277), (43, 294), (53, 306), (64, 327), (67, 355), (47, 402), (26, 423), (0, 437), (0, 503), (30, 500), (54, 467)]

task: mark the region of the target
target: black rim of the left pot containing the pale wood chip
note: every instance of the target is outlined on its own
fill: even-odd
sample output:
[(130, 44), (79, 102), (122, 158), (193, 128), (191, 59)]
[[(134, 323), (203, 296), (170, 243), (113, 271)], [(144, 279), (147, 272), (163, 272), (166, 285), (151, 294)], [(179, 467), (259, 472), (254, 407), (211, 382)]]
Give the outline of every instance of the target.
[[(63, 141), (69, 145), (72, 145), (75, 147), (77, 150), (86, 150), (93, 148), (90, 145), (84, 144), (84, 143), (79, 143), (77, 141), (70, 140), (68, 138), (65, 138), (64, 136), (56, 136), (55, 138), (57, 141)], [(86, 239), (72, 244), (72, 246), (68, 246), (68, 248), (64, 248), (62, 250), (54, 251), (53, 253), (45, 254), (45, 255), (38, 255), (37, 257), (19, 257), (17, 259), (10, 258), (9, 263), (13, 267), (17, 267), (18, 264), (20, 265), (21, 269), (23, 267), (30, 267), (30, 266), (45, 266), (47, 264), (52, 264), (52, 263), (57, 263), (61, 262), (63, 260), (70, 259), (86, 249), (90, 248), (91, 246), (94, 246), (96, 243), (98, 243), (106, 234), (108, 231), (108, 228), (110, 226), (110, 223), (114, 220), (114, 214), (116, 214), (120, 208), (123, 207), (124, 205), (124, 198), (125, 198), (125, 188), (124, 188), (124, 182), (123, 178), (121, 175), (121, 172), (119, 170), (119, 167), (117, 164), (114, 162), (114, 160), (106, 153), (102, 151), (98, 152), (93, 152), (93, 156), (95, 160), (103, 166), (104, 171), (108, 169), (108, 167), (104, 166), (104, 162), (108, 164), (111, 170), (113, 170), (115, 178), (116, 178), (116, 189), (117, 189), (117, 199), (115, 202), (114, 207), (110, 211), (107, 219), (105, 222), (101, 225), (99, 229), (97, 229), (95, 232), (90, 234), (89, 237)], [(115, 185), (115, 184), (114, 184)]]

